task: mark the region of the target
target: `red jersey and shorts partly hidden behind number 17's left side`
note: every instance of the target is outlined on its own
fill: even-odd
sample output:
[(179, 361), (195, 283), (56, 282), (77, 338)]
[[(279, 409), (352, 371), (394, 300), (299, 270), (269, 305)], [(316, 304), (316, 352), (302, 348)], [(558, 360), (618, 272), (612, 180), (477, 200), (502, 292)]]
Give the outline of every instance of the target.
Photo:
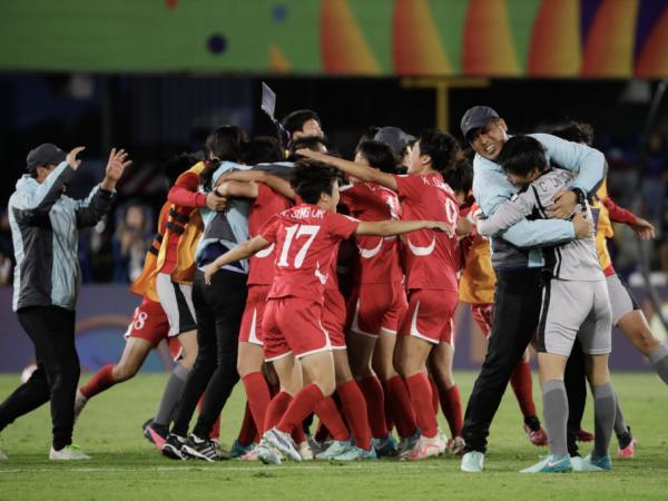
[[(257, 197), (250, 207), (248, 216), (248, 233), (250, 238), (259, 234), (259, 229), (273, 216), (289, 208), (291, 200), (277, 194), (264, 183), (257, 187)], [(267, 294), (274, 283), (275, 245), (261, 250), (248, 261), (248, 297), (239, 328), (239, 343), (253, 343), (262, 346), (262, 318), (267, 301)]]

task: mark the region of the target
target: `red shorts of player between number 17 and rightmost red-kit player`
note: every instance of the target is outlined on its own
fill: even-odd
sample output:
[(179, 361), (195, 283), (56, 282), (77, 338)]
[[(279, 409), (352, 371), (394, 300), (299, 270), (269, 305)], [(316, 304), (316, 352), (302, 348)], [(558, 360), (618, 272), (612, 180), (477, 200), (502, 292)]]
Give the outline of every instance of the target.
[(409, 308), (403, 284), (360, 284), (348, 299), (351, 331), (376, 337), (381, 328), (396, 334)]

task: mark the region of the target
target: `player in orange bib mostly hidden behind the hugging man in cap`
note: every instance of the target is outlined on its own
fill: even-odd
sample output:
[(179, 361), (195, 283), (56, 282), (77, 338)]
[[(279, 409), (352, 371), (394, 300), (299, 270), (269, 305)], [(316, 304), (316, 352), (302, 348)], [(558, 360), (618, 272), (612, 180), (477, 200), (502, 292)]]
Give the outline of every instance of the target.
[[(468, 158), (461, 159), (453, 169), (448, 170), (445, 177), (460, 202), (460, 222), (462, 219), (470, 222), (469, 229), (460, 239), (462, 265), (460, 302), (471, 305), (473, 320), (485, 340), (489, 340), (492, 330), (497, 275), (492, 268), (490, 243), (475, 230), (474, 222), (480, 216), (481, 210), (471, 194), (473, 166)], [(548, 436), (536, 415), (531, 383), (529, 351), (525, 350), (524, 355), (510, 376), (510, 385), (520, 405), (524, 420), (524, 432), (529, 440), (534, 445), (547, 445)], [(453, 432), (453, 436), (458, 436), (458, 434)]]

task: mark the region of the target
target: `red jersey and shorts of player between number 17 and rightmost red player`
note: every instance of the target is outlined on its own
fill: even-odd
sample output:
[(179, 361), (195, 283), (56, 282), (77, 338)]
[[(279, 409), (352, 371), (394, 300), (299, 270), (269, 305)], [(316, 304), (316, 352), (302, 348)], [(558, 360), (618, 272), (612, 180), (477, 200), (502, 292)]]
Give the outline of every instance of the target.
[[(394, 191), (363, 183), (341, 191), (341, 199), (360, 220), (399, 219), (401, 207)], [(377, 336), (381, 328), (396, 333), (407, 308), (395, 236), (355, 237), (358, 250), (355, 288), (348, 298), (351, 330)]]

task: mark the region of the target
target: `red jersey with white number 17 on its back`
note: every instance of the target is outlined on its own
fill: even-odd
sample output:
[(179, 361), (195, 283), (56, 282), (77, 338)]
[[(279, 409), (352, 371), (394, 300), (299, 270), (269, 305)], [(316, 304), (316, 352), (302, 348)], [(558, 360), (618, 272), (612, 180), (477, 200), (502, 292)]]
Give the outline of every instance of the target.
[(334, 249), (358, 224), (312, 204), (275, 215), (259, 230), (265, 240), (276, 245), (274, 284), (267, 298), (294, 296), (322, 304)]

